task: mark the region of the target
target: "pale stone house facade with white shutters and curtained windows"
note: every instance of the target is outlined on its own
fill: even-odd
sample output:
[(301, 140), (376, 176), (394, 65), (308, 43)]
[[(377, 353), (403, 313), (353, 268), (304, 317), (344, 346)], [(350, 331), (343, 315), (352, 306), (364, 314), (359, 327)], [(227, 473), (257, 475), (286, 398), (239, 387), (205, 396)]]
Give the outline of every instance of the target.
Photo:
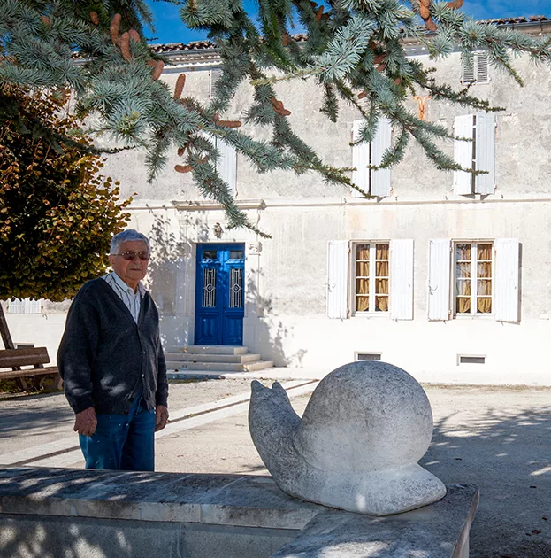
[[(545, 18), (500, 25), (551, 33)], [(242, 345), (276, 365), (328, 371), (381, 359), (425, 382), (551, 384), (551, 68), (517, 59), (521, 88), (488, 66), (484, 53), (474, 53), (471, 68), (459, 52), (433, 62), (421, 45), (405, 47), (435, 66), (440, 81), (455, 87), (472, 81), (473, 94), (504, 107), (487, 115), (427, 97), (410, 101), (427, 120), (471, 135), (473, 143), (442, 147), (488, 174), (473, 181), (440, 172), (412, 142), (390, 172), (356, 175), (377, 194), (365, 199), (313, 173), (257, 174), (241, 154), (226, 150), (226, 178), (237, 204), (272, 236), (262, 239), (228, 230), (220, 206), (202, 198), (190, 176), (174, 172), (176, 153), (153, 184), (139, 151), (110, 157), (105, 174), (121, 182), (123, 196), (136, 193), (130, 226), (154, 245), (149, 285), (165, 346), (197, 341), (201, 291), (209, 287), (201, 274), (212, 268), (204, 255), (233, 248), (240, 257), (244, 251), (242, 275), (235, 275)], [(185, 72), (185, 95), (210, 95), (219, 59), (209, 43), (156, 48), (174, 64), (162, 76), (170, 87)], [(357, 151), (349, 145), (356, 109), (341, 105), (333, 124), (319, 112), (313, 82), (279, 82), (276, 89), (292, 127), (331, 165), (376, 158), (391, 141), (392, 128), (381, 124), (380, 144)], [(227, 116), (242, 120), (251, 95), (241, 85)], [(265, 134), (247, 123), (242, 129)], [(64, 312), (43, 307), (42, 314), (7, 317), (16, 342), (55, 353)]]

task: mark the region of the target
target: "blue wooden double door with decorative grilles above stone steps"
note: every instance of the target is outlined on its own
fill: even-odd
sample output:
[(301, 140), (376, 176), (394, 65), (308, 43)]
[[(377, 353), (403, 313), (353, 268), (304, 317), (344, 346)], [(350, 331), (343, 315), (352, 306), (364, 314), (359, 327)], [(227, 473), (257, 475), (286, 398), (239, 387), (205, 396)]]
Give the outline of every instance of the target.
[(245, 244), (197, 244), (195, 345), (242, 345)]

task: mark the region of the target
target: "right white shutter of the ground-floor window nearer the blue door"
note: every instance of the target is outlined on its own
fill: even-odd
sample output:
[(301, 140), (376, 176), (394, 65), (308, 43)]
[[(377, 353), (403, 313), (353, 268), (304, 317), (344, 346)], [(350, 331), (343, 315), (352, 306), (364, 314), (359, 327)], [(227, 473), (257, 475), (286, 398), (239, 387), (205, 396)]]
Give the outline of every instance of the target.
[(413, 240), (390, 241), (390, 317), (413, 320)]

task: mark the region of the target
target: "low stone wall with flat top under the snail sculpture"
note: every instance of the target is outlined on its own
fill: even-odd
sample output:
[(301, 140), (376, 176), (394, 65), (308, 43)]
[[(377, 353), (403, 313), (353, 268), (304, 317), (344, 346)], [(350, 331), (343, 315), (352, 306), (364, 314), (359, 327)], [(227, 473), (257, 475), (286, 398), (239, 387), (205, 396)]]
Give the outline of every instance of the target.
[[(270, 477), (0, 469), (0, 558), (268, 558), (322, 547), (464, 558), (477, 501), (474, 487), (449, 485), (433, 506), (371, 518), (291, 498)], [(367, 554), (378, 538), (394, 544), (389, 554)]]

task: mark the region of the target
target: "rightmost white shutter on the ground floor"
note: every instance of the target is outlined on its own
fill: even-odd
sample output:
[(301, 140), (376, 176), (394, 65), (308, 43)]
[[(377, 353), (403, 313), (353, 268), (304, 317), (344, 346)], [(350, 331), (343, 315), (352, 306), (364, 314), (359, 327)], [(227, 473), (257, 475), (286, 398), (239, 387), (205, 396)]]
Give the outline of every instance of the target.
[(494, 314), (500, 322), (518, 322), (518, 263), (520, 244), (517, 238), (495, 239)]

